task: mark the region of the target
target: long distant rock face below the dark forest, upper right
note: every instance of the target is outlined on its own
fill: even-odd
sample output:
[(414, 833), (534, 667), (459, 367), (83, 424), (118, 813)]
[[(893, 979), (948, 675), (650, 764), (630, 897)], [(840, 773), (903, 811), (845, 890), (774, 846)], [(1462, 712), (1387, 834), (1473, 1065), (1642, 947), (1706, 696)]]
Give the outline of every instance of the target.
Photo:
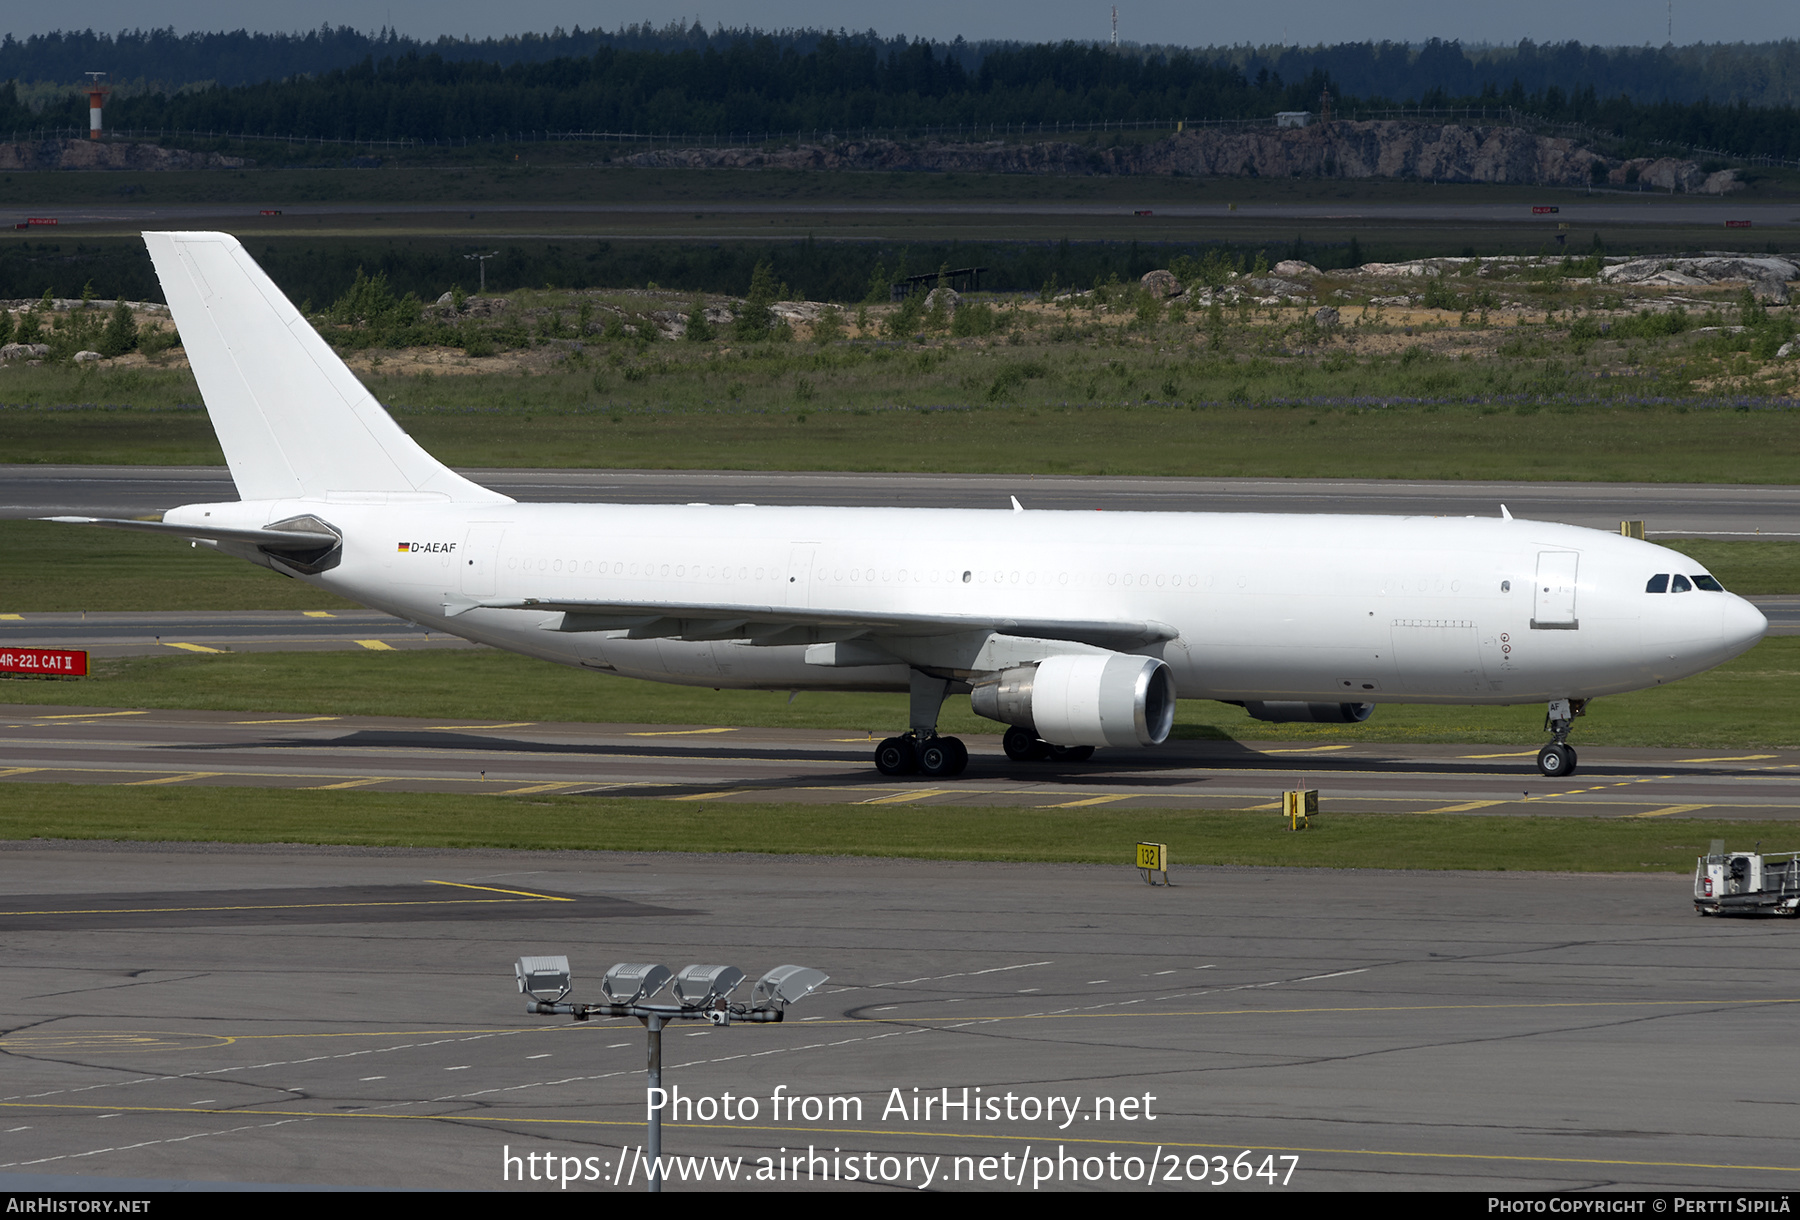
[[(1701, 173), (1685, 160), (1616, 162), (1564, 137), (1523, 128), (1404, 121), (1316, 122), (1307, 128), (1195, 128), (1150, 144), (1094, 148), (839, 140), (785, 149), (671, 148), (614, 164), (689, 169), (900, 169), (1022, 175), (1188, 175), (1224, 178), (1429, 178), (1591, 185), (1597, 178), (1696, 194), (1737, 189), (1735, 171)], [(1631, 175), (1636, 167), (1636, 175)]]

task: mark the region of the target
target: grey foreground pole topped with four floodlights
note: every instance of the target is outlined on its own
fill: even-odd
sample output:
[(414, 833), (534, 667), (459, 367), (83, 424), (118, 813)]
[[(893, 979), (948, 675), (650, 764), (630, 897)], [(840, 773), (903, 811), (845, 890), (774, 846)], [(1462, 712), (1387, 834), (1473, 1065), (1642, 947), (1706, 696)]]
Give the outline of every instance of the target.
[[(599, 981), (605, 1004), (563, 1004), (574, 986), (567, 957), (520, 957), (513, 963), (513, 975), (520, 993), (531, 997), (526, 1011), (533, 1017), (635, 1017), (644, 1022), (650, 1040), (644, 1063), (644, 1159), (650, 1162), (648, 1186), (653, 1195), (662, 1191), (662, 1105), (668, 1098), (662, 1092), (662, 1026), (671, 1020), (709, 1020), (715, 1026), (783, 1020), (788, 1004), (806, 999), (830, 977), (810, 966), (776, 966), (751, 988), (749, 1004), (733, 1004), (731, 993), (743, 982), (743, 972), (736, 966), (682, 966), (680, 973), (673, 973), (655, 963), (621, 961)], [(675, 1004), (644, 1002), (664, 986), (673, 991)]]

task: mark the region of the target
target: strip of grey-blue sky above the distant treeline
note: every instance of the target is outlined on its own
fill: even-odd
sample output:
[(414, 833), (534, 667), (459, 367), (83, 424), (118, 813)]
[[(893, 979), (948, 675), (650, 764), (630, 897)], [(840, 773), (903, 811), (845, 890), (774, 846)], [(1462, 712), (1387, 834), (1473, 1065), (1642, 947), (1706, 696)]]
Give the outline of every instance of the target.
[[(686, 0), (684, 0), (686, 4)], [(844, 27), (927, 38), (1105, 38), (1109, 4), (1093, 0), (988, 0), (950, 4), (916, 0), (895, 9), (869, 0), (704, 0), (689, 7), (616, 0), (83, 0), (81, 5), (13, 4), (5, 27), (14, 36), (68, 29), (101, 31), (164, 27), (178, 31), (292, 31), (320, 23), (376, 29), (392, 22), (405, 34), (513, 34), (562, 27), (616, 29), (626, 22), (657, 25), (700, 18), (713, 25)], [(1145, 43), (1336, 43), (1391, 38), (1460, 38), (1512, 43), (1519, 38), (1604, 45), (1665, 41), (1669, 0), (1510, 0), (1508, 4), (1444, 4), (1442, 0), (1273, 0), (1269, 4), (1193, 4), (1192, 0), (1125, 0), (1120, 38)], [(1793, 0), (1694, 0), (1674, 4), (1674, 41), (1766, 41), (1800, 36)]]

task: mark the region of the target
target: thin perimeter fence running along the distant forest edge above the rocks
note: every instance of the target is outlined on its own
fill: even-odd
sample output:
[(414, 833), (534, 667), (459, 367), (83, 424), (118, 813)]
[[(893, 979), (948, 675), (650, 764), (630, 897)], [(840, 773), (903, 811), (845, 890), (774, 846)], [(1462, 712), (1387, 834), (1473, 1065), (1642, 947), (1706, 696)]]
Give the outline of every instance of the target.
[[(1310, 115), (1318, 121), (1318, 115)], [(1528, 131), (1548, 131), (1570, 135), (1584, 140), (1620, 140), (1633, 139), (1649, 148), (1669, 149), (1687, 157), (1708, 157), (1733, 160), (1750, 166), (1769, 166), (1782, 169), (1800, 169), (1800, 160), (1771, 157), (1766, 153), (1733, 153), (1723, 148), (1705, 148), (1701, 144), (1681, 144), (1676, 140), (1649, 140), (1622, 137), (1615, 131), (1602, 131), (1584, 122), (1562, 122), (1535, 115), (1514, 106), (1350, 106), (1332, 113), (1332, 121), (1368, 122), (1368, 121), (1409, 121), (1409, 122), (1476, 122), (1521, 128)], [(1278, 128), (1282, 121), (1274, 115), (1256, 119), (1096, 119), (1091, 122), (988, 122), (988, 124), (943, 124), (911, 128), (787, 128), (781, 131), (490, 131), (473, 137), (441, 139), (360, 139), (331, 135), (257, 135), (250, 131), (198, 131), (185, 128), (115, 128), (104, 131), (108, 140), (209, 140), (250, 144), (288, 144), (313, 148), (365, 148), (365, 149), (427, 149), (427, 148), (479, 148), (482, 144), (637, 144), (664, 148), (761, 148), (770, 144), (821, 144), (846, 140), (1022, 140), (1031, 137), (1060, 137), (1094, 131), (1184, 131), (1188, 128)], [(65, 140), (86, 139), (86, 128), (34, 128), (31, 131), (13, 131), (14, 144), (22, 140)]]

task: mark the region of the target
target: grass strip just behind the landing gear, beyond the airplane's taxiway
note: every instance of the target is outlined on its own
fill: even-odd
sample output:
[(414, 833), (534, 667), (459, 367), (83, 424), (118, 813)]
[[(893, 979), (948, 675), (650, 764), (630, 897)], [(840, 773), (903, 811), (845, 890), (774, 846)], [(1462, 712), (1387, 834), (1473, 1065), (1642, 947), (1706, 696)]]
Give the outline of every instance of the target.
[[(616, 678), (500, 651), (220, 653), (97, 660), (95, 677), (0, 682), (0, 705), (220, 709), (319, 716), (419, 716), (835, 729), (886, 736), (905, 725), (904, 695), (713, 691)], [(1800, 747), (1800, 637), (1768, 639), (1685, 682), (1595, 700), (1580, 745), (1679, 749)], [(952, 698), (945, 732), (999, 732)], [(1183, 700), (1179, 740), (1307, 743), (1492, 743), (1535, 747), (1543, 705), (1381, 705), (1361, 725), (1269, 725), (1238, 707)]]

